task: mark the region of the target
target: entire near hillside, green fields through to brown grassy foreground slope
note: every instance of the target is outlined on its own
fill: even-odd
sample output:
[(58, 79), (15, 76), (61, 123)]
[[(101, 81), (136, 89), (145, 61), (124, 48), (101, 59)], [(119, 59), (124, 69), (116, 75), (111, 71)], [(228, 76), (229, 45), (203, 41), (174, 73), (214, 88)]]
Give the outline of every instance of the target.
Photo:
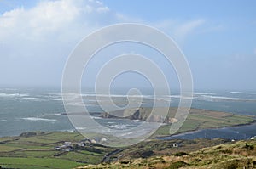
[(89, 142), (79, 132), (26, 132), (0, 138), (2, 168), (223, 168), (219, 165), (256, 168), (256, 141), (152, 139), (111, 148)]

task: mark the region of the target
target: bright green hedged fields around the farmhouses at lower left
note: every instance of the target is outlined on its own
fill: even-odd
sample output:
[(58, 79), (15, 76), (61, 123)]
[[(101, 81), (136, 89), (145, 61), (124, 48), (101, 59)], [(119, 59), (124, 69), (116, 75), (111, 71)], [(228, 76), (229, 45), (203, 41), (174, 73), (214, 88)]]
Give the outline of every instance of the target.
[(79, 142), (79, 132), (38, 132), (37, 135), (1, 138), (0, 166), (6, 168), (73, 168), (84, 164), (97, 164), (112, 148), (94, 145), (101, 153), (90, 150), (70, 152), (54, 148), (67, 142)]

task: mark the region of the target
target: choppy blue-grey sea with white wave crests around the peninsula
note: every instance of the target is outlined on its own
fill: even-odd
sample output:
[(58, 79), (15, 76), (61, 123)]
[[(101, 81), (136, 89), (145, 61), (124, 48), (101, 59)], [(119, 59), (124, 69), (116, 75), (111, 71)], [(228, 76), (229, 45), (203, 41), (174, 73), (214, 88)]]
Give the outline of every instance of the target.
[[(101, 118), (99, 100), (93, 92), (82, 93), (84, 105), (91, 117), (114, 129), (136, 127), (143, 121)], [(114, 93), (113, 100), (119, 106), (127, 104), (127, 95)], [(136, 96), (134, 96), (136, 99)], [(154, 95), (143, 93), (143, 106), (152, 106)], [(160, 100), (171, 100), (170, 106), (177, 106), (180, 100), (178, 92), (170, 96), (159, 96)], [(102, 94), (101, 100), (104, 101)], [(197, 109), (218, 110), (237, 115), (256, 117), (256, 92), (252, 91), (195, 91), (192, 106)], [(0, 137), (18, 136), (22, 132), (76, 131), (64, 109), (60, 88), (55, 87), (0, 87)], [(172, 138), (229, 138), (249, 139), (256, 136), (256, 124), (241, 127), (224, 127), (187, 132)]]

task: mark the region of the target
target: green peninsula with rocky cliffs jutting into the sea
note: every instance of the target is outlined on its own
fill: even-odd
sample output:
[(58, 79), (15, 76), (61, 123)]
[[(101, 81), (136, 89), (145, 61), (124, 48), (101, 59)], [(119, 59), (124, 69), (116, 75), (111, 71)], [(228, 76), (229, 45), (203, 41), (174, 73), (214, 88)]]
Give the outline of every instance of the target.
[[(170, 107), (166, 117), (161, 115), (164, 108), (155, 108), (157, 115), (150, 115), (152, 108), (140, 107), (126, 110), (116, 110), (113, 112), (103, 112), (102, 118), (122, 118), (149, 122), (163, 122), (163, 125), (154, 133), (154, 136), (169, 135), (170, 125), (177, 122), (175, 114), (177, 107)], [(190, 109), (189, 115), (184, 121), (183, 126), (177, 131), (190, 132), (206, 128), (233, 127), (251, 124), (255, 121), (255, 117), (249, 115), (236, 115), (231, 112), (221, 112), (213, 110)]]

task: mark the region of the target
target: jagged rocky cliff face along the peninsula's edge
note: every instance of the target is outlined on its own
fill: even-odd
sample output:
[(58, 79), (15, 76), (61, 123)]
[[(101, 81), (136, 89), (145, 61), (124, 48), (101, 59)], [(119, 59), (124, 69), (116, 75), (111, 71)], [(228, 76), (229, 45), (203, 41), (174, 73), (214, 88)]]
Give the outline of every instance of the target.
[[(156, 108), (157, 112), (162, 112), (163, 108)], [(172, 118), (172, 113), (176, 112), (175, 109), (170, 108), (168, 115), (165, 118), (165, 115), (151, 115), (151, 108), (134, 108), (134, 109), (126, 109), (126, 110), (116, 110), (113, 112), (104, 112), (102, 113), (102, 118), (125, 118), (130, 120), (139, 120), (139, 121), (149, 121), (149, 122), (164, 122), (164, 123), (172, 123), (177, 122), (176, 119)]]

